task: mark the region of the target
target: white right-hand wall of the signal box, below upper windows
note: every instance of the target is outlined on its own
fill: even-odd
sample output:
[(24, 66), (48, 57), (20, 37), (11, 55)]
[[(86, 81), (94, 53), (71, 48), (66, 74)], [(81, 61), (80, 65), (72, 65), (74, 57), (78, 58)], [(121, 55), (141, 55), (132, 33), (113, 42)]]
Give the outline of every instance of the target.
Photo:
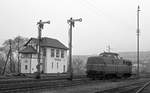
[[(51, 57), (51, 49), (54, 49), (55, 51), (54, 57)], [(64, 50), (64, 58), (61, 58), (61, 52), (59, 52), (59, 57), (56, 57), (56, 48), (47, 48), (46, 51), (46, 73), (67, 72), (67, 51)], [(59, 49), (59, 51), (61, 51), (61, 49)]]

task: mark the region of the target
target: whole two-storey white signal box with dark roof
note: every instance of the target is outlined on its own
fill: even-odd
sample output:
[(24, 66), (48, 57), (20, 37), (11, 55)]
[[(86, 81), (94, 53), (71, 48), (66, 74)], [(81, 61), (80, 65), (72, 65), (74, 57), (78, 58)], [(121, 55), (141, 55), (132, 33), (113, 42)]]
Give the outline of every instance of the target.
[[(38, 64), (38, 40), (31, 38), (21, 53), (21, 73), (37, 72)], [(41, 39), (41, 65), (43, 73), (67, 72), (67, 50), (68, 48), (60, 41), (44, 37)]]

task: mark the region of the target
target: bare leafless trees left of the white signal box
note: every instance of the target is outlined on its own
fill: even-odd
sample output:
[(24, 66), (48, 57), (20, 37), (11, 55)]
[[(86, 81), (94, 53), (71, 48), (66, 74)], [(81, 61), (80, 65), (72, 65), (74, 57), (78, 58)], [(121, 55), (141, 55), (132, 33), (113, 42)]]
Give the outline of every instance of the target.
[[(4, 61), (6, 60), (8, 52), (11, 48), (11, 55), (9, 57), (10, 62), (7, 64), (8, 66), (6, 70), (8, 71), (8, 67), (10, 68), (10, 71), (8, 71), (8, 73), (19, 72), (19, 68), (18, 68), (19, 67), (19, 51), (21, 50), (22, 46), (27, 42), (27, 40), (28, 38), (17, 36), (14, 39), (5, 40), (2, 46), (0, 47), (0, 53), (1, 55), (3, 55)], [(0, 65), (0, 68), (4, 68), (4, 67)]]

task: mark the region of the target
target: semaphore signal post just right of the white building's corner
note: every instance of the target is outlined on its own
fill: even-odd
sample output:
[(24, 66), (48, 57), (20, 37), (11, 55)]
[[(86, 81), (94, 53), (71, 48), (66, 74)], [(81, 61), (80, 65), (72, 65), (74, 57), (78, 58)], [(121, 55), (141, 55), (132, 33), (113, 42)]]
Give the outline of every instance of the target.
[(72, 80), (73, 78), (73, 69), (72, 69), (72, 27), (75, 26), (75, 22), (79, 21), (81, 22), (82, 19), (72, 19), (70, 18), (69, 20), (67, 20), (68, 24), (70, 25), (69, 28), (69, 69), (68, 72), (70, 74), (70, 80)]

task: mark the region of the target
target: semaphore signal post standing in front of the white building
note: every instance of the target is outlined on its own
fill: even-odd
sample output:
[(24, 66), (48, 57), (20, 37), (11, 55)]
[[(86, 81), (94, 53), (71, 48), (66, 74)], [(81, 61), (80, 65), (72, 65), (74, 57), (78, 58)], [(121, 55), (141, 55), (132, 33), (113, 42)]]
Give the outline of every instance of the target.
[(41, 78), (41, 72), (40, 72), (40, 65), (41, 65), (41, 62), (40, 62), (40, 59), (41, 59), (41, 31), (44, 27), (44, 24), (50, 24), (50, 21), (46, 21), (46, 22), (42, 22), (42, 20), (40, 20), (39, 22), (37, 22), (37, 25), (38, 25), (38, 65), (37, 65), (37, 76), (36, 78), (37, 79), (40, 79)]

